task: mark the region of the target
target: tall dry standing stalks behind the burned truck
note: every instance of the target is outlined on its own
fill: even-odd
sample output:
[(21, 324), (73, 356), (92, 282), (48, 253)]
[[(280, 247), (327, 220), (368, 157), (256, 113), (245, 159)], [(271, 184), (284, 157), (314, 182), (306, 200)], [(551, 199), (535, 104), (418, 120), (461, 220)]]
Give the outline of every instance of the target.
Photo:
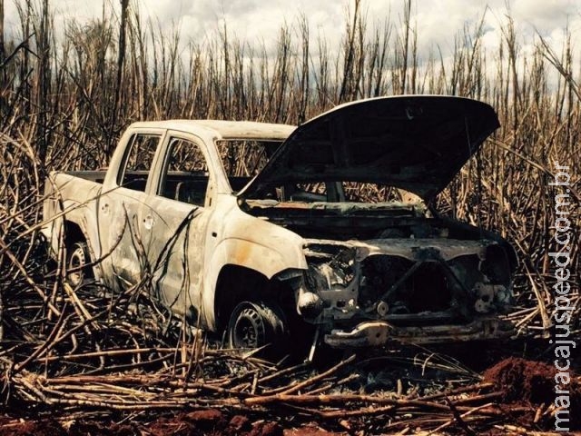
[[(63, 40), (55, 37), (48, 0), (17, 6), (19, 36), (5, 40), (0, 23), (5, 325), (14, 325), (8, 308), (22, 292), (43, 291), (36, 223), (44, 176), (106, 165), (127, 124), (167, 118), (300, 124), (364, 97), (455, 94), (492, 104), (502, 127), (441, 194), (438, 208), (496, 229), (516, 245), (517, 303), (527, 307), (523, 325), (529, 332), (548, 328), (548, 253), (557, 248), (556, 190), (548, 182), (554, 162), (569, 164), (574, 181), (581, 173), (581, 56), (570, 34), (558, 52), (538, 37), (534, 54), (525, 56), (508, 20), (500, 49), (489, 53), (482, 20), (456, 37), (451, 62), (436, 51), (420, 59), (411, 2), (404, 2), (399, 25), (391, 25), (388, 17), (370, 20), (364, 3), (355, 0), (338, 53), (300, 16), (281, 27), (271, 55), (264, 44), (236, 38), (227, 25), (204, 41), (184, 41), (179, 27), (160, 28), (127, 0), (118, 18), (103, 13), (88, 24), (69, 20)], [(572, 281), (578, 283), (578, 185), (571, 198)]]

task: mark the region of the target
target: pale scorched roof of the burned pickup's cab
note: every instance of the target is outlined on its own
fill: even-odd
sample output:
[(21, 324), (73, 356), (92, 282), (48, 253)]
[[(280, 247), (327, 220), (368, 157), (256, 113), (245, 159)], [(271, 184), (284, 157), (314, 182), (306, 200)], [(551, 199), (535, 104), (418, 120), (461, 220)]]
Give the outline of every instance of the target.
[(211, 133), (219, 139), (273, 139), (284, 140), (292, 131), (294, 125), (258, 123), (254, 121), (223, 121), (223, 120), (166, 120), (142, 121), (133, 123), (131, 127), (172, 129), (191, 134)]

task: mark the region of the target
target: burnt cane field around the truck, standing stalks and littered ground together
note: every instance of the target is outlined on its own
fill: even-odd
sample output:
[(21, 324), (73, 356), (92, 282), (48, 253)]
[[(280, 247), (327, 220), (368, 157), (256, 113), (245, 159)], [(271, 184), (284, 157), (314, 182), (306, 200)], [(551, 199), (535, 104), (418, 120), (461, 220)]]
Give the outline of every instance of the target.
[[(340, 52), (300, 18), (278, 51), (226, 26), (204, 42), (163, 34), (122, 2), (118, 19), (71, 20), (54, 38), (48, 2), (19, 2), (21, 35), (0, 45), (0, 434), (535, 434), (554, 429), (556, 163), (571, 174), (571, 322), (578, 342), (581, 88), (566, 35), (534, 53), (510, 19), (501, 49), (482, 22), (449, 64), (419, 59), (410, 4), (397, 27), (358, 2)], [(3, 5), (3, 4), (0, 4)], [(2, 7), (2, 6), (0, 6)], [(185, 48), (184, 48), (185, 47)], [(514, 338), (330, 352), (273, 363), (229, 350), (152, 298), (152, 276), (125, 292), (76, 289), (40, 233), (54, 170), (107, 165), (133, 121), (235, 119), (300, 124), (335, 104), (389, 94), (454, 94), (491, 104), (501, 127), (438, 195), (444, 215), (495, 230), (517, 249)], [(365, 192), (369, 200), (378, 193)], [(581, 365), (571, 356), (570, 427), (581, 430)]]

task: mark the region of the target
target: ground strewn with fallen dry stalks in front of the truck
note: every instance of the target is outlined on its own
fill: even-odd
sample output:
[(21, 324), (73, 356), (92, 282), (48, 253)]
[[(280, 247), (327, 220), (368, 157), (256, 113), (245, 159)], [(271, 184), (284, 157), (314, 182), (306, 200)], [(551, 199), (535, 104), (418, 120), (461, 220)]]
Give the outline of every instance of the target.
[[(55, 303), (60, 313), (34, 322), (31, 301), (25, 306), (33, 322), (10, 325), (12, 332), (31, 323), (38, 330), (28, 341), (5, 340), (0, 434), (540, 434), (554, 428), (556, 370), (543, 362), (550, 362), (544, 340), (430, 350), (394, 345), (332, 357), (320, 350), (313, 363), (273, 364), (184, 329), (138, 289), (115, 297), (76, 290)], [(578, 429), (581, 386), (573, 378), (571, 429)]]

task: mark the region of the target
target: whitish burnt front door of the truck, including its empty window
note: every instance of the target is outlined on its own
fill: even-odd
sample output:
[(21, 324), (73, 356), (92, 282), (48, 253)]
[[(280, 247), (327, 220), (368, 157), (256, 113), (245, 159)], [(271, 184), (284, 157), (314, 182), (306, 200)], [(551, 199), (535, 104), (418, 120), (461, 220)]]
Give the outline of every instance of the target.
[[(140, 211), (145, 253), (158, 297), (197, 321), (202, 297), (205, 235), (211, 183), (202, 148), (187, 136), (170, 134), (162, 153), (162, 174)], [(203, 321), (203, 320), (202, 320)]]

